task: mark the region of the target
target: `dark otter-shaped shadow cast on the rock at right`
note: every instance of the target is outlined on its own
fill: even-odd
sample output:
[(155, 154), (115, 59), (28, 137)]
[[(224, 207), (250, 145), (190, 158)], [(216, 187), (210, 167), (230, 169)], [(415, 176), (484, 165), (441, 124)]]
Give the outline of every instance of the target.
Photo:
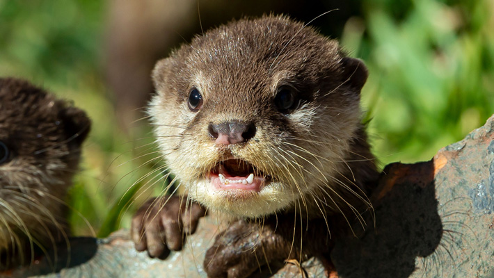
[[(409, 277), (416, 256), (432, 254), (440, 243), (433, 161), (390, 164), (379, 184), (372, 196), (375, 214), (365, 215), (365, 231), (335, 240), (331, 258), (342, 278)], [(353, 231), (359, 229), (353, 225)]]

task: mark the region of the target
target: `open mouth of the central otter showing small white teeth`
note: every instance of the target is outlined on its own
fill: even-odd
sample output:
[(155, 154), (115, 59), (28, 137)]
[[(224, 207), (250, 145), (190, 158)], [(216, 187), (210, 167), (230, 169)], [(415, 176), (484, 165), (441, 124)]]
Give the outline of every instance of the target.
[(209, 179), (216, 190), (241, 189), (259, 192), (270, 177), (247, 161), (230, 158), (218, 163), (209, 173)]

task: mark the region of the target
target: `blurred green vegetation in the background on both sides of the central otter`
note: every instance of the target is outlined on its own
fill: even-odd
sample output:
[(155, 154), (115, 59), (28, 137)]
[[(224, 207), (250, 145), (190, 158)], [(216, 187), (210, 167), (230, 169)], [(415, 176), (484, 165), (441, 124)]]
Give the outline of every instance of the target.
[[(341, 41), (369, 67), (362, 106), (381, 165), (429, 160), (494, 113), (494, 0), (367, 0), (360, 10)], [(68, 201), (78, 235), (92, 233), (85, 219), (99, 236), (129, 227), (127, 204), (162, 188), (152, 184), (159, 171), (146, 175), (159, 165), (150, 129), (141, 122), (130, 137), (116, 124), (102, 70), (105, 15), (97, 0), (0, 0), (0, 75), (73, 99), (93, 119)]]

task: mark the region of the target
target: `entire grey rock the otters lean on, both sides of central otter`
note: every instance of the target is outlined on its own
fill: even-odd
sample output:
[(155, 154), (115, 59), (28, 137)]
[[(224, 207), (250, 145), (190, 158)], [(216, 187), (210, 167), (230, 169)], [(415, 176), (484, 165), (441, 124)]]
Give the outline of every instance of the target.
[[(358, 236), (340, 235), (331, 259), (341, 278), (494, 277), (494, 116), (441, 149), (431, 161), (385, 167)], [(31, 266), (4, 277), (206, 277), (205, 250), (218, 225), (201, 220), (182, 252), (150, 259), (134, 250), (127, 231), (109, 238), (72, 238)], [(365, 228), (365, 229), (364, 229)], [(70, 260), (67, 260), (70, 259)], [(67, 261), (69, 261), (67, 263)], [(271, 265), (254, 277), (324, 277), (317, 259)], [(55, 273), (48, 274), (55, 271)], [(332, 275), (334, 277), (334, 275)]]

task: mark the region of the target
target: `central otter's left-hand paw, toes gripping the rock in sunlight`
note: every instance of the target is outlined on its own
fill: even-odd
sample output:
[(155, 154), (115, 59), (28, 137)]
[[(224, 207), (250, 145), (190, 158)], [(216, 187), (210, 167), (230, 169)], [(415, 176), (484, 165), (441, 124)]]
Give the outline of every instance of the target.
[(136, 250), (148, 250), (152, 257), (181, 250), (184, 235), (196, 231), (205, 213), (205, 208), (195, 202), (186, 206), (186, 196), (149, 199), (132, 218), (130, 231)]

